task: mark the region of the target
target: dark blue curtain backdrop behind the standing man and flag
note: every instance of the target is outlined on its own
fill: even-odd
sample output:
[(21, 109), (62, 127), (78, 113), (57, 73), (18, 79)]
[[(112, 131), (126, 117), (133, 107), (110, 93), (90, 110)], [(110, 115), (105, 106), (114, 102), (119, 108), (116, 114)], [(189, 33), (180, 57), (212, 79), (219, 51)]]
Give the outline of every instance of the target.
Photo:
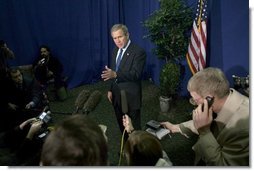
[[(196, 8), (197, 0), (187, 0)], [(220, 67), (231, 81), (231, 75), (249, 73), (249, 7), (248, 1), (209, 0), (208, 64)], [(151, 52), (153, 44), (144, 39), (142, 22), (156, 9), (158, 0), (0, 0), (0, 39), (14, 51), (10, 65), (31, 64), (39, 46), (47, 44), (64, 65), (73, 88), (100, 80), (100, 74), (111, 60), (114, 47), (110, 28), (115, 23), (128, 26), (133, 42), (147, 52), (144, 79), (159, 82), (164, 61)], [(182, 95), (191, 76), (186, 61)]]

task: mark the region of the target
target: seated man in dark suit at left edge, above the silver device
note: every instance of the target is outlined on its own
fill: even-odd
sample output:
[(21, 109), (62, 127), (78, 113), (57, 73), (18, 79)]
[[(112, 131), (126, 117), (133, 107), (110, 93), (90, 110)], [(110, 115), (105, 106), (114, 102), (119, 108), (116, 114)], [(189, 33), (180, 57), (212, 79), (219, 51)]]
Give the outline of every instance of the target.
[(8, 130), (28, 118), (41, 113), (47, 101), (38, 82), (23, 74), (16, 68), (9, 70), (8, 96), (5, 101), (7, 109), (2, 113), (0, 121), (1, 131)]

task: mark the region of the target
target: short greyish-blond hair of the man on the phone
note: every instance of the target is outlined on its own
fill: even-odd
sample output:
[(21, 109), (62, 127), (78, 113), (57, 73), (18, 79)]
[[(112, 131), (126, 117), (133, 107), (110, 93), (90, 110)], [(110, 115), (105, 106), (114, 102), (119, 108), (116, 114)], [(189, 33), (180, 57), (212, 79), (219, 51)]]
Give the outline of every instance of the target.
[(194, 74), (188, 82), (189, 92), (196, 92), (202, 97), (208, 94), (223, 98), (229, 94), (229, 82), (219, 68), (205, 68)]

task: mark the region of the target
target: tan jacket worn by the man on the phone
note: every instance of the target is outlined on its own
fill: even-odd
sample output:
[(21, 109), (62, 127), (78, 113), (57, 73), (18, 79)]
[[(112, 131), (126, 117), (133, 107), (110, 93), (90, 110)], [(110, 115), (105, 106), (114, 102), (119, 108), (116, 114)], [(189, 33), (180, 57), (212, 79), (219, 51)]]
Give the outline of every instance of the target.
[[(249, 166), (249, 98), (231, 89), (215, 120), (219, 134), (199, 136), (193, 146), (195, 164), (202, 159), (209, 166)], [(181, 123), (180, 129), (186, 135), (197, 133), (192, 120)]]

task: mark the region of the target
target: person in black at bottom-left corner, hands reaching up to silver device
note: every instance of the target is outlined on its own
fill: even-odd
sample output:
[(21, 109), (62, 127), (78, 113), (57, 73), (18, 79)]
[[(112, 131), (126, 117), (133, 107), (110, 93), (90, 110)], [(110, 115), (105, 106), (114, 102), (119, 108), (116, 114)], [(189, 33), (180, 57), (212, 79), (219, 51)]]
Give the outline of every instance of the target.
[[(43, 141), (37, 138), (42, 121), (29, 118), (20, 125), (0, 134), (0, 148), (8, 149), (8, 160), (1, 165), (39, 165)], [(6, 155), (6, 154), (5, 154)], [(2, 157), (1, 157), (2, 158)]]

